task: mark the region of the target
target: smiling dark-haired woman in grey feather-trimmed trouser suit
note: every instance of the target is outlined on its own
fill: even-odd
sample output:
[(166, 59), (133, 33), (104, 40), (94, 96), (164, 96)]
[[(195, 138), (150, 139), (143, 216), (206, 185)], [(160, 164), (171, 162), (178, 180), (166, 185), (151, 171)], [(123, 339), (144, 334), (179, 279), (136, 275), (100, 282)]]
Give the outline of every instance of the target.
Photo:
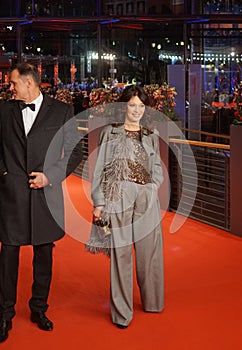
[[(148, 96), (141, 87), (129, 86), (119, 102), (119, 108), (125, 107), (124, 122), (101, 131), (92, 199), (94, 222), (102, 218), (111, 227), (111, 315), (113, 323), (123, 329), (133, 318), (133, 246), (143, 309), (160, 312), (164, 308), (157, 195), (163, 175), (159, 136), (154, 128), (147, 127)], [(87, 249), (100, 251), (98, 242), (100, 239), (92, 234)]]

